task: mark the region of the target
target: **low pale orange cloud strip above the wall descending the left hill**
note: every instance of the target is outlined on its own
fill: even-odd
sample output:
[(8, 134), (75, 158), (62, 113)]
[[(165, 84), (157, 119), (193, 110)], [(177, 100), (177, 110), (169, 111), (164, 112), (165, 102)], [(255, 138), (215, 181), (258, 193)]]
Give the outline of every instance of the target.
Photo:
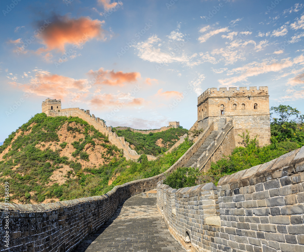
[(118, 93), (115, 94), (100, 94), (93, 96), (89, 103), (94, 108), (105, 108), (105, 107), (142, 107), (145, 100), (143, 98), (135, 98), (130, 93)]

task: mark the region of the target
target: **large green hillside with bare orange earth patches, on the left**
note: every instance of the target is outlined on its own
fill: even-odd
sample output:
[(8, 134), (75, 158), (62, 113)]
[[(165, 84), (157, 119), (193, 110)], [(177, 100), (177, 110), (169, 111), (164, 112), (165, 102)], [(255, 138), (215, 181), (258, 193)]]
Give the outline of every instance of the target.
[(140, 163), (126, 161), (107, 136), (82, 119), (36, 114), (0, 146), (0, 194), (9, 182), (14, 203), (101, 195), (115, 185), (168, 169), (190, 146), (186, 141), (153, 162), (145, 155)]

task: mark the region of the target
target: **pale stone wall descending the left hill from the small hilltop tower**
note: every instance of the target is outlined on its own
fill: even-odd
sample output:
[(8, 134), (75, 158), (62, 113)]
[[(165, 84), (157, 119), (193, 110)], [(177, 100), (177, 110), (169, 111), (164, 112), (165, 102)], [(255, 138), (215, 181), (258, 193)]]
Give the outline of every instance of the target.
[[(119, 137), (115, 132), (112, 132), (111, 127), (107, 127), (107, 125), (99, 118), (95, 117), (95, 115), (90, 115), (90, 110), (84, 110), (79, 108), (67, 108), (67, 109), (61, 109), (59, 111), (57, 110), (47, 110), (44, 113), (47, 114), (47, 116), (72, 116), (72, 117), (79, 117), (82, 120), (88, 122), (88, 124), (93, 125), (97, 130), (102, 132), (102, 134), (109, 136), (109, 141), (116, 145), (119, 149), (123, 149), (123, 154), (126, 157), (126, 159), (132, 159), (137, 160), (140, 158), (140, 155), (137, 154), (135, 150), (132, 150), (129, 147), (129, 143), (125, 141), (124, 137)], [(148, 160), (155, 160), (156, 157), (152, 155), (147, 155)]]

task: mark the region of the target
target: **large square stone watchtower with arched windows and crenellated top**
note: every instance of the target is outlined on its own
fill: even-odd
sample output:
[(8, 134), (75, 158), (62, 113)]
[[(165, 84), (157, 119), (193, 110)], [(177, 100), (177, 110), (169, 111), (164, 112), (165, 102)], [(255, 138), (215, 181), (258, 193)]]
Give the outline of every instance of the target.
[(233, 120), (236, 146), (242, 146), (238, 136), (250, 132), (258, 136), (261, 146), (270, 143), (270, 113), (268, 87), (209, 88), (198, 97), (198, 129), (206, 128), (214, 121), (214, 128), (221, 128)]

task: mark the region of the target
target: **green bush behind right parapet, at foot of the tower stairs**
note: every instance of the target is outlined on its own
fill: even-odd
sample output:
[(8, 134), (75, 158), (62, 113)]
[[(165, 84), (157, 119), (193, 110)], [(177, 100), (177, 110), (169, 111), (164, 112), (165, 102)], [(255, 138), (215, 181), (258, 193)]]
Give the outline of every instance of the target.
[(167, 174), (166, 178), (164, 179), (164, 184), (175, 189), (182, 187), (191, 187), (197, 185), (196, 180), (198, 177), (198, 168), (195, 169), (191, 167), (178, 167), (170, 174)]

